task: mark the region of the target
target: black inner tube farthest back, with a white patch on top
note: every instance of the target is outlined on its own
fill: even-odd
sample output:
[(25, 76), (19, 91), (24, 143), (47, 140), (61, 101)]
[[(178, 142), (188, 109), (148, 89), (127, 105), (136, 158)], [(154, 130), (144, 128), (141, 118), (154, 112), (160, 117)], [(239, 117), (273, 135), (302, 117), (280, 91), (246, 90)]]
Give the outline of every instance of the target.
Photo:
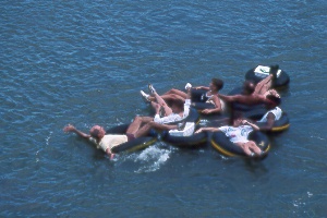
[[(257, 65), (246, 72), (245, 80), (253, 81), (256, 84), (269, 75), (269, 66)], [(279, 70), (279, 72), (277, 73), (277, 78), (272, 83), (272, 87), (283, 87), (287, 86), (289, 83), (290, 76), (283, 70)]]

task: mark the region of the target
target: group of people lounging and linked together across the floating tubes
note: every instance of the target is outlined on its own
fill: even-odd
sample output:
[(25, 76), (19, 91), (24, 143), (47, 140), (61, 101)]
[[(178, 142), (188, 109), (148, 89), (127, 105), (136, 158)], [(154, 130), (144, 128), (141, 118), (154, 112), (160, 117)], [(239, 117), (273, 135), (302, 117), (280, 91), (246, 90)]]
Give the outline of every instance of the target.
[[(196, 102), (205, 102), (210, 107), (202, 109), (203, 114), (222, 113), (227, 111), (227, 106), (232, 106), (234, 102), (254, 106), (264, 104), (267, 108), (266, 114), (257, 121), (264, 122), (265, 125), (256, 125), (254, 122), (243, 119), (242, 113), (232, 112), (230, 124), (215, 128), (199, 128), (194, 134), (203, 131), (216, 132), (222, 131), (229, 140), (239, 146), (243, 152), (251, 157), (266, 156), (255, 142), (249, 141), (249, 134), (252, 131), (269, 131), (275, 121), (281, 117), (281, 109), (278, 107), (281, 102), (279, 94), (272, 89), (274, 80), (278, 68), (270, 66), (270, 74), (262, 80), (258, 84), (245, 81), (243, 92), (238, 95), (222, 95), (219, 90), (223, 87), (223, 82), (219, 78), (213, 78), (209, 86), (192, 87), (186, 84), (186, 92), (172, 88), (161, 96), (158, 95), (153, 85), (148, 85), (149, 94), (141, 90), (141, 95), (147, 104), (155, 110), (154, 117), (136, 116), (133, 122), (129, 125), (125, 134), (106, 134), (102, 126), (95, 125), (89, 130), (89, 134), (77, 130), (75, 126), (68, 124), (64, 126), (64, 132), (74, 132), (78, 136), (94, 143), (98, 148), (101, 148), (110, 158), (114, 154), (112, 148), (125, 142), (130, 142), (137, 137), (148, 135), (150, 130), (169, 131), (179, 128), (178, 121), (185, 119), (190, 113), (190, 107)], [(231, 108), (231, 110), (233, 110)]]

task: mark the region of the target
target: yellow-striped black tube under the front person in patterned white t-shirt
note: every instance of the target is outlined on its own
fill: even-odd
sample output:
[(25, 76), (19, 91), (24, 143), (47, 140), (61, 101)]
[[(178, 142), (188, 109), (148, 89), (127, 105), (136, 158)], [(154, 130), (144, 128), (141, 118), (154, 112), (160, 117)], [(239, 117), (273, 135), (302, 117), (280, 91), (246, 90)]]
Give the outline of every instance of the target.
[[(249, 140), (254, 141), (257, 146), (266, 153), (270, 149), (268, 137), (262, 132), (253, 131), (252, 133), (250, 133)], [(211, 136), (210, 144), (223, 156), (249, 157), (247, 155), (245, 155), (242, 148), (230, 142), (230, 140), (223, 132), (215, 132)]]

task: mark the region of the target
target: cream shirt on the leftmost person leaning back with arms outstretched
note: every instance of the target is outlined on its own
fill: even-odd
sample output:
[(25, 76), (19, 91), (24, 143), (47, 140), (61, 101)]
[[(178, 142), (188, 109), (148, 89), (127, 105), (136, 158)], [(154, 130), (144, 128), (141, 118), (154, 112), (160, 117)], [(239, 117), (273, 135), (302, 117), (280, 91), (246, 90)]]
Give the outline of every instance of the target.
[(97, 148), (101, 148), (106, 152), (108, 148), (111, 150), (113, 147), (128, 142), (126, 135), (105, 135), (99, 143), (94, 137), (89, 137), (89, 141), (97, 146)]

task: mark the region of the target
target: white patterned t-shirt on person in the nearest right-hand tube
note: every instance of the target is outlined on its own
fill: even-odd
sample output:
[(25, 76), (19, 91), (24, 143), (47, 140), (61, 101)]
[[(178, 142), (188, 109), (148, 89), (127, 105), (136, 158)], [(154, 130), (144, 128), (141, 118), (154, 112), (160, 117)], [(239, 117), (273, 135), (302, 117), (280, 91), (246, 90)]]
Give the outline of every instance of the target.
[(225, 125), (218, 128), (232, 143), (247, 143), (249, 134), (253, 131), (250, 125), (240, 125), (238, 128)]

